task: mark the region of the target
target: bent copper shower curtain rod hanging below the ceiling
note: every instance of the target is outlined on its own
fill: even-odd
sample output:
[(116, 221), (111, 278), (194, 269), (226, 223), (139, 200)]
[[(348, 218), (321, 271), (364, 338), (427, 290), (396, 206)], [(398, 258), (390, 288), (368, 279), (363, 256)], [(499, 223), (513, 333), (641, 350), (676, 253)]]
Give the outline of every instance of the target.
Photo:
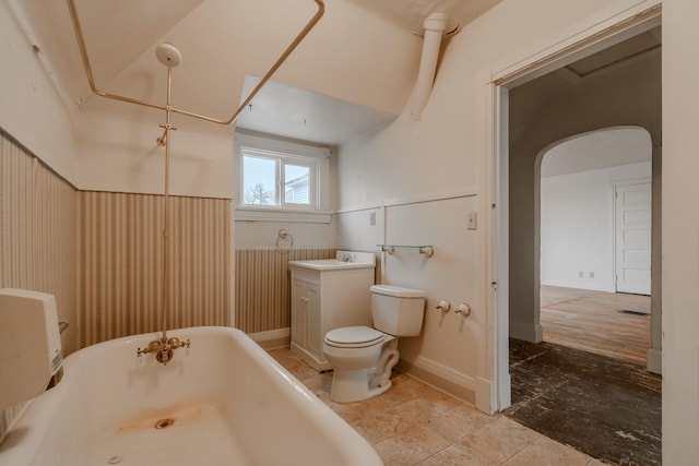
[(145, 107), (156, 108), (159, 110), (171, 111), (174, 113), (180, 113), (192, 118), (198, 118), (200, 120), (210, 121), (212, 123), (218, 124), (232, 124), (240, 112), (250, 104), (252, 98), (257, 95), (257, 93), (264, 86), (264, 84), (272, 77), (274, 72), (284, 63), (284, 61), (288, 58), (289, 55), (296, 49), (296, 47), (304, 40), (304, 38), (308, 35), (310, 29), (316, 26), (316, 24), (320, 21), (323, 13), (325, 12), (325, 5), (323, 0), (313, 0), (318, 10), (316, 14), (310, 19), (310, 21), (306, 24), (306, 26), (300, 31), (300, 33), (294, 38), (294, 40), (286, 47), (284, 52), (280, 56), (280, 58), (272, 64), (272, 68), (262, 76), (262, 80), (258, 83), (258, 85), (252, 89), (252, 92), (248, 95), (242, 104), (238, 107), (238, 109), (228, 118), (227, 120), (220, 120), (217, 118), (208, 117), (205, 115), (194, 113), (192, 111), (183, 110), (181, 108), (168, 107), (167, 105), (153, 104), (146, 100), (140, 100), (132, 97), (126, 97), (117, 94), (110, 94), (105, 91), (100, 91), (97, 88), (95, 84), (95, 79), (92, 73), (92, 65), (90, 64), (90, 57), (87, 56), (87, 49), (85, 47), (85, 39), (83, 37), (82, 26), (80, 24), (80, 17), (78, 16), (78, 10), (75, 9), (75, 3), (73, 0), (68, 1), (68, 9), (70, 10), (70, 16), (73, 22), (73, 29), (75, 32), (75, 37), (78, 38), (78, 47), (80, 48), (80, 56), (83, 61), (83, 65), (85, 67), (85, 73), (87, 74), (87, 81), (90, 82), (90, 88), (93, 93), (97, 94), (100, 97), (110, 98), (114, 100), (126, 101), (129, 104), (142, 105)]

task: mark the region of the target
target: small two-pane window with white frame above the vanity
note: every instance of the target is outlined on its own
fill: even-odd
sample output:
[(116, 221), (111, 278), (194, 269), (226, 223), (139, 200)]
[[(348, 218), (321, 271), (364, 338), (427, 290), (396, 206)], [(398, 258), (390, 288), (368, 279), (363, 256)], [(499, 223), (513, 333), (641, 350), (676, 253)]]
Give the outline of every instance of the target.
[(329, 150), (236, 133), (235, 151), (236, 218), (330, 222)]

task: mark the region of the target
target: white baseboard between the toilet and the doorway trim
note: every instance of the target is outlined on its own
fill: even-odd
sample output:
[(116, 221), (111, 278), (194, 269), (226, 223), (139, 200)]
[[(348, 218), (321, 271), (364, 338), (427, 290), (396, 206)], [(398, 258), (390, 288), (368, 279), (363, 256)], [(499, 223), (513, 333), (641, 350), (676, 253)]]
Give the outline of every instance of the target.
[(478, 407), (477, 405), (482, 404), (476, 404), (476, 391), (478, 391), (477, 387), (479, 385), (477, 380), (431, 359), (422, 356), (403, 355), (403, 358), (398, 363), (398, 370), (472, 406)]

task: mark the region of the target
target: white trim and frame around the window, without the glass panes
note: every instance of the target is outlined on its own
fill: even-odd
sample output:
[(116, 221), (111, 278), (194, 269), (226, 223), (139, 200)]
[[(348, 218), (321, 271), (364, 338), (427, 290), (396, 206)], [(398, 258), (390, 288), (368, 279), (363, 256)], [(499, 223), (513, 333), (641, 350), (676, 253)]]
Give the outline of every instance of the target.
[[(309, 160), (313, 165), (311, 177), (315, 178), (315, 189), (311, 190), (311, 205), (287, 204), (285, 207), (260, 205), (252, 206), (242, 203), (242, 152), (276, 156), (288, 154), (293, 159), (297, 156)], [(299, 222), (299, 223), (330, 223), (330, 148), (299, 144), (296, 142), (265, 138), (236, 131), (234, 139), (235, 166), (235, 219), (250, 222)], [(284, 195), (281, 192), (280, 195)]]

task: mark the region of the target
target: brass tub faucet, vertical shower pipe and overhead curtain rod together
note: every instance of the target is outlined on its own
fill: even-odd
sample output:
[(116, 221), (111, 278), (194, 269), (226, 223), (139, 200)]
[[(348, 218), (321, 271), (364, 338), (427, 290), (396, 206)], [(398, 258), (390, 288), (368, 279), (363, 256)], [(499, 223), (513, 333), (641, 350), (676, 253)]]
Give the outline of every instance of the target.
[[(146, 100), (141, 100), (132, 97), (126, 97), (117, 94), (110, 94), (105, 91), (100, 91), (97, 88), (95, 84), (95, 80), (92, 73), (92, 65), (90, 64), (90, 57), (87, 56), (87, 48), (85, 47), (85, 38), (83, 36), (82, 26), (80, 24), (80, 17), (78, 16), (78, 10), (75, 8), (75, 3), (73, 0), (68, 1), (68, 9), (70, 11), (70, 16), (73, 23), (73, 31), (75, 33), (75, 38), (78, 39), (78, 47), (80, 49), (80, 56), (83, 61), (83, 67), (85, 68), (85, 73), (87, 75), (87, 82), (90, 83), (91, 91), (105, 98), (120, 100), (128, 104), (141, 105), (144, 107), (151, 107), (165, 111), (165, 124), (161, 124), (161, 128), (164, 129), (163, 135), (157, 139), (158, 145), (165, 146), (165, 187), (163, 193), (163, 241), (162, 241), (162, 286), (161, 286), (161, 315), (162, 315), (162, 326), (163, 326), (163, 336), (158, 339), (154, 339), (149, 344), (149, 346), (144, 349), (138, 348), (137, 356), (141, 356), (143, 354), (155, 353), (155, 358), (158, 362), (163, 365), (167, 365), (167, 362), (173, 358), (173, 350), (181, 347), (189, 348), (190, 340), (189, 338), (186, 342), (181, 342), (177, 337), (171, 337), (168, 339), (167, 337), (167, 275), (168, 275), (168, 261), (167, 261), (167, 240), (168, 240), (168, 204), (169, 204), (169, 163), (170, 163), (170, 138), (169, 133), (171, 130), (176, 130), (175, 127), (170, 123), (171, 113), (180, 113), (187, 117), (197, 118), (200, 120), (228, 126), (235, 122), (240, 112), (250, 104), (252, 98), (258, 94), (258, 92), (264, 86), (264, 84), (272, 77), (272, 75), (276, 72), (276, 70), (286, 61), (289, 55), (296, 49), (296, 47), (304, 40), (304, 38), (308, 35), (308, 33), (316, 26), (316, 24), (320, 21), (323, 13), (325, 12), (325, 5), (323, 0), (313, 0), (318, 10), (316, 14), (308, 21), (306, 26), (298, 33), (298, 35), (292, 40), (292, 43), (286, 47), (284, 52), (280, 56), (280, 58), (272, 64), (270, 70), (262, 76), (262, 80), (258, 83), (258, 85), (252, 89), (252, 92), (248, 95), (242, 104), (237, 108), (236, 111), (228, 118), (227, 120), (221, 120), (213, 117), (208, 117), (200, 113), (194, 113), (192, 111), (183, 110), (180, 108), (176, 108), (171, 106), (170, 91), (171, 91), (171, 68), (173, 65), (179, 64), (179, 57), (176, 58), (175, 63), (165, 63), (165, 60), (162, 60), (164, 64), (167, 67), (167, 99), (166, 105), (154, 104)], [(173, 47), (174, 49), (174, 47)], [(171, 50), (170, 50), (171, 51)], [(175, 52), (179, 55), (179, 51)], [(158, 57), (158, 59), (161, 59)], [(169, 58), (167, 58), (169, 60)]]

